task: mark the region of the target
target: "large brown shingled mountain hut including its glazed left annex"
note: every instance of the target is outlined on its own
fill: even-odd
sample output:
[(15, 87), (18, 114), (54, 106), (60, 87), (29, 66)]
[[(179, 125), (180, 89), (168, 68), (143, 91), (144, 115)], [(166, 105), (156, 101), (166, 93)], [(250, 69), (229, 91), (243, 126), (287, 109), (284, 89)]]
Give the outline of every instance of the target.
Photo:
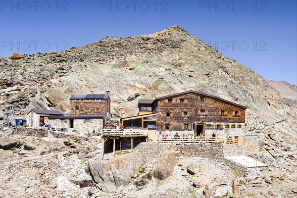
[[(246, 106), (206, 95), (196, 91), (159, 97), (153, 100), (139, 100), (139, 116), (148, 117), (156, 114), (157, 131), (199, 131), (207, 129), (243, 128), (245, 126)], [(146, 120), (146, 119), (143, 119)], [(122, 123), (136, 125), (133, 117), (123, 118)], [(133, 124), (134, 123), (134, 124)], [(144, 128), (146, 124), (141, 124)], [(127, 126), (129, 127), (129, 126)]]

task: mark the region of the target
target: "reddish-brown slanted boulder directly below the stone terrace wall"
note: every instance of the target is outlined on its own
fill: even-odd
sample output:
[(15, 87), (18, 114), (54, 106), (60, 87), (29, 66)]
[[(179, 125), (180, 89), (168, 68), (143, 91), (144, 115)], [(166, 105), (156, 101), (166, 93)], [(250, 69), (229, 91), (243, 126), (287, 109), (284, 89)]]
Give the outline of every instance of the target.
[[(180, 151), (178, 151), (180, 152)], [(174, 151), (165, 151), (157, 161), (157, 165), (152, 172), (155, 178), (166, 179), (173, 174), (174, 167), (177, 165), (179, 153)]]

